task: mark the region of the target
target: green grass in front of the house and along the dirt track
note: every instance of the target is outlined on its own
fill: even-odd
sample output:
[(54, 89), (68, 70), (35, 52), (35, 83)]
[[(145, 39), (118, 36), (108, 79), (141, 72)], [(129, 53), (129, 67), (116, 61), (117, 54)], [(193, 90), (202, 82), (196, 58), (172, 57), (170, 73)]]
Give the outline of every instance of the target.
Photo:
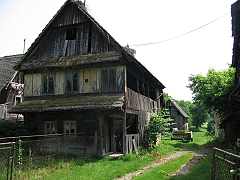
[[(139, 150), (140, 154), (127, 154), (122, 157), (113, 158), (113, 157), (82, 157), (82, 156), (60, 156), (55, 159), (48, 160), (48, 163), (42, 164), (32, 164), (31, 168), (25, 168), (21, 171), (20, 177), (15, 176), (13, 179), (44, 179), (44, 180), (74, 180), (74, 179), (104, 179), (112, 180), (114, 178), (119, 178), (129, 172), (136, 171), (144, 166), (154, 162), (156, 158), (166, 156), (170, 153), (174, 153), (181, 148), (186, 148), (188, 150), (194, 150), (202, 146), (209, 146), (211, 139), (208, 139), (206, 136), (206, 129), (200, 128), (200, 130), (194, 132), (194, 141), (193, 142), (182, 142), (182, 141), (172, 141), (172, 140), (162, 140), (160, 145), (153, 149), (153, 151), (148, 152), (144, 149)], [(159, 167), (153, 168), (146, 172), (147, 175), (155, 177), (155, 174), (158, 175), (157, 179), (169, 179), (171, 176), (168, 174), (173, 174), (180, 167), (181, 164), (187, 162), (193, 154), (188, 153), (179, 158), (169, 161), (165, 164), (160, 165)], [(208, 160), (208, 161), (207, 161)], [(211, 164), (211, 158), (206, 159), (206, 164)], [(205, 163), (203, 162), (203, 164)], [(198, 167), (200, 166), (200, 167)], [(205, 168), (199, 164), (197, 167), (200, 168), (195, 170), (193, 169), (192, 179), (195, 179), (195, 176), (200, 176), (203, 174), (209, 174), (209, 168)], [(198, 175), (196, 175), (199, 172)], [(191, 175), (190, 173), (190, 175)], [(195, 174), (194, 174), (195, 173)], [(161, 178), (159, 178), (161, 177)], [(193, 178), (194, 177), (194, 178)], [(210, 177), (210, 176), (206, 176)], [(202, 179), (209, 179), (209, 178)], [(136, 178), (142, 178), (141, 176)], [(173, 177), (171, 177), (173, 178)], [(175, 178), (175, 177), (174, 177)], [(177, 178), (177, 177), (176, 177)], [(189, 178), (189, 177), (186, 177)], [(148, 178), (150, 179), (150, 178)]]

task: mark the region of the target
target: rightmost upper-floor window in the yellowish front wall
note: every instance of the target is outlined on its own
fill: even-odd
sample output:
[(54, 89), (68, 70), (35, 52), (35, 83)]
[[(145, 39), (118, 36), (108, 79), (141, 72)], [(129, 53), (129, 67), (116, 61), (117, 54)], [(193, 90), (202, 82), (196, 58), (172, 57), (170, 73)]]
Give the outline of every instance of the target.
[(102, 70), (102, 90), (116, 90), (116, 69)]

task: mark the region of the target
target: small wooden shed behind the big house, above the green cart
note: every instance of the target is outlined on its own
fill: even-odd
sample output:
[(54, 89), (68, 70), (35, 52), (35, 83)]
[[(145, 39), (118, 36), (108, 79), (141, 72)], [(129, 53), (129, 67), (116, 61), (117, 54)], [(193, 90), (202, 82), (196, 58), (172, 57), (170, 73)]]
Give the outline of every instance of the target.
[(188, 131), (188, 118), (189, 116), (183, 111), (183, 109), (173, 100), (168, 100), (166, 102), (166, 108), (169, 109), (170, 117), (174, 119), (172, 125), (173, 128), (178, 130), (187, 130)]

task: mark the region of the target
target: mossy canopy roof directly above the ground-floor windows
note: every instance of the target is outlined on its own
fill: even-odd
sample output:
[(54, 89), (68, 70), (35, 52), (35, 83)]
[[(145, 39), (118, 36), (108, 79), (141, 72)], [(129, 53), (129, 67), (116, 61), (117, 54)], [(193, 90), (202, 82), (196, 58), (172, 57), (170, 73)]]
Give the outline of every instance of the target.
[(124, 104), (123, 95), (79, 96), (49, 100), (24, 101), (11, 109), (10, 113), (44, 112), (63, 110), (114, 109)]

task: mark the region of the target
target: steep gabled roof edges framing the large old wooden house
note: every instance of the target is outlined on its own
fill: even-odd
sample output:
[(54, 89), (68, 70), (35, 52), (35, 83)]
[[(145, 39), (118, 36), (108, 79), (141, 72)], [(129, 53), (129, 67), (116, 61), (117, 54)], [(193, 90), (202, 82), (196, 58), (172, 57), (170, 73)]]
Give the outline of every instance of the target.
[[(75, 7), (78, 8), (79, 11), (81, 11), (92, 23), (96, 28), (105, 36), (108, 38), (108, 40), (114, 44), (117, 50), (121, 51), (124, 56), (128, 59), (128, 61), (135, 62), (136, 66), (142, 71), (145, 72), (145, 75), (150, 76), (152, 81), (159, 87), (159, 88), (165, 88), (165, 86), (157, 79), (155, 78), (139, 61), (135, 59), (133, 55), (131, 55), (128, 51), (126, 51), (90, 14), (88, 14), (84, 4), (80, 0), (67, 0), (63, 6), (58, 10), (58, 12), (53, 16), (53, 18), (49, 21), (49, 23), (46, 25), (46, 27), (42, 30), (42, 32), (39, 34), (39, 36), (36, 38), (35, 42), (31, 45), (31, 47), (28, 49), (28, 51), (25, 53), (24, 57), (22, 58), (21, 62), (25, 62), (27, 60), (28, 55), (31, 54), (31, 52), (37, 48), (38, 43), (41, 41), (42, 38), (46, 37), (48, 35), (47, 32), (49, 32), (53, 27), (52, 24), (55, 22), (57, 17), (60, 15), (61, 12), (64, 11), (64, 8), (68, 3), (72, 3)], [(16, 66), (16, 69), (20, 69), (21, 62), (18, 63)]]

